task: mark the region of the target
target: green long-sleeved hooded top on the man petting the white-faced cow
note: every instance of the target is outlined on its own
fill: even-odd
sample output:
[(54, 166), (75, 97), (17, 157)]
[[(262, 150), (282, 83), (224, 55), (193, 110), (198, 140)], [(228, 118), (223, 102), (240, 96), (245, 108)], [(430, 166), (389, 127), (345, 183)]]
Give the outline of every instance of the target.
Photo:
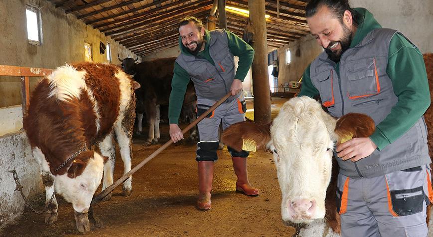
[[(351, 48), (361, 42), (371, 30), (381, 27), (370, 12), (363, 8), (356, 8), (356, 10), (361, 14), (362, 21), (350, 44)], [(302, 88), (298, 96), (319, 95), (319, 91), (311, 82), (310, 66), (311, 64), (303, 74)], [(335, 69), (339, 73), (339, 63)], [(391, 39), (386, 72), (391, 79), (398, 102), (370, 136), (379, 150), (406, 133), (430, 105), (430, 91), (423, 55), (401, 34), (395, 34)]]

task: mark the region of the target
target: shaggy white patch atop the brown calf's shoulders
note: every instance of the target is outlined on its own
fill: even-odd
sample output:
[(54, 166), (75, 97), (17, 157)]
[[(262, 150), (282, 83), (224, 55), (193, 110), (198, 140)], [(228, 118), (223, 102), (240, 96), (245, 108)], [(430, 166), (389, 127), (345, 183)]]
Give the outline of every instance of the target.
[(82, 89), (86, 89), (85, 71), (77, 71), (71, 65), (57, 68), (47, 76), (50, 83), (48, 98), (56, 96), (58, 100), (68, 101), (79, 98)]

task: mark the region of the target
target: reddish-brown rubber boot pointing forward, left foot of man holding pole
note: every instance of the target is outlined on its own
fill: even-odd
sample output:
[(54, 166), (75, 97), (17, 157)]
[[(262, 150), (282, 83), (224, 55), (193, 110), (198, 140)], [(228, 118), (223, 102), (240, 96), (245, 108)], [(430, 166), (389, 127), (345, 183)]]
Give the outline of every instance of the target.
[(200, 210), (210, 210), (210, 191), (212, 190), (213, 180), (213, 161), (198, 162), (198, 195), (197, 208)]

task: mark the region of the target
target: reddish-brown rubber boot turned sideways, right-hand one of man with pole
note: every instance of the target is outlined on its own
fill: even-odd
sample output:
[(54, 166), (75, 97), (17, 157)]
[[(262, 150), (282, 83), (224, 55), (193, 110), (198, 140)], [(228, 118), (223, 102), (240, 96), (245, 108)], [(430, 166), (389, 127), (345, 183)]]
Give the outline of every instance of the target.
[(241, 192), (248, 196), (258, 196), (259, 189), (251, 186), (248, 182), (247, 173), (247, 158), (246, 157), (232, 157), (233, 169), (235, 170), (238, 180), (236, 181), (236, 191)]

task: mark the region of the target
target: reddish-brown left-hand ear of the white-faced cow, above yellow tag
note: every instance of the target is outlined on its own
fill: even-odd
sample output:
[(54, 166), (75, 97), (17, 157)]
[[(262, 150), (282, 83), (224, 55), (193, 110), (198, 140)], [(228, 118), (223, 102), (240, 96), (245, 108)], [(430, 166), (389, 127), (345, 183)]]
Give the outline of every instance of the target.
[(271, 123), (258, 124), (254, 122), (240, 122), (231, 125), (224, 130), (221, 141), (240, 152), (244, 141), (253, 140), (256, 143), (256, 150), (265, 150), (266, 145), (271, 141)]

